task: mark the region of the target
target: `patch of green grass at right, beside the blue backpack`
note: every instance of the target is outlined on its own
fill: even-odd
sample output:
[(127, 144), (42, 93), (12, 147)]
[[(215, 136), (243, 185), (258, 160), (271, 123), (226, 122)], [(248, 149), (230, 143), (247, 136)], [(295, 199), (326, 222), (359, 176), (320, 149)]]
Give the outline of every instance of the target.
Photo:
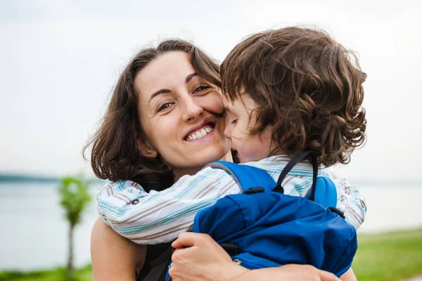
[(358, 235), (352, 268), (359, 281), (397, 281), (422, 275), (422, 229)]

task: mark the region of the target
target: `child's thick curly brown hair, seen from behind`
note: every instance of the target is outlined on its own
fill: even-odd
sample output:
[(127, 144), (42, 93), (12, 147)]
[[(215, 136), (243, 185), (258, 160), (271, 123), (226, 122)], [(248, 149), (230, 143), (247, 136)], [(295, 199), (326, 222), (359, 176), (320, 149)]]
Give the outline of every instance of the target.
[(287, 27), (253, 34), (229, 53), (221, 75), (230, 100), (244, 89), (258, 104), (261, 126), (251, 133), (271, 125), (286, 155), (313, 150), (325, 166), (345, 164), (364, 143), (366, 74), (326, 32)]

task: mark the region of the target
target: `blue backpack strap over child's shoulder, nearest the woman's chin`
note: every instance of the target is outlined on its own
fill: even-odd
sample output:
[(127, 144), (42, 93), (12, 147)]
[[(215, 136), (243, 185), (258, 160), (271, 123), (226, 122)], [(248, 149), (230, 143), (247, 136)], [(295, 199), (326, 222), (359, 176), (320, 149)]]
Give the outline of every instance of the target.
[(276, 182), (266, 171), (254, 166), (225, 161), (212, 162), (207, 166), (214, 169), (223, 169), (229, 173), (238, 182), (243, 191), (257, 187), (262, 187), (265, 191), (271, 191), (276, 186)]

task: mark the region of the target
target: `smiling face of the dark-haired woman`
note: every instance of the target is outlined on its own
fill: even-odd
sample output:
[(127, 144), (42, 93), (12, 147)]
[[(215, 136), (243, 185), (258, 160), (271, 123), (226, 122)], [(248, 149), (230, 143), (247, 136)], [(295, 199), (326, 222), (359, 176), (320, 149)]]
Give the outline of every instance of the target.
[(147, 138), (143, 155), (161, 155), (178, 177), (229, 151), (224, 120), (208, 112), (224, 111), (220, 90), (196, 74), (186, 53), (160, 55), (136, 74), (134, 86)]

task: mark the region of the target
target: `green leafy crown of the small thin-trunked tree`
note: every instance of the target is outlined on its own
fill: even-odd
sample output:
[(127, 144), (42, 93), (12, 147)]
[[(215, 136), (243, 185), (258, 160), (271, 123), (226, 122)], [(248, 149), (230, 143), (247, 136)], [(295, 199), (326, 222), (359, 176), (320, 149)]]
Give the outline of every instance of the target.
[(81, 220), (81, 214), (91, 201), (89, 195), (90, 182), (82, 176), (67, 176), (60, 180), (60, 204), (65, 209), (65, 216), (71, 226)]

